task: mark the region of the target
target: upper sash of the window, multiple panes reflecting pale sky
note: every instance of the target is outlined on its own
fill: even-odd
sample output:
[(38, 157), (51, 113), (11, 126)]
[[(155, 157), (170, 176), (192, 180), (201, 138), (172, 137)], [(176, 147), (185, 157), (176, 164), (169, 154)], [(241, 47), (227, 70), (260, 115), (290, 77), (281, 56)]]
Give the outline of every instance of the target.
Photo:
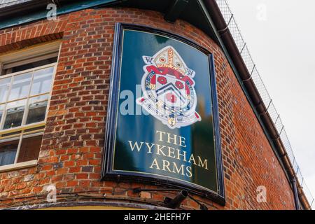
[[(0, 127), (3, 130), (45, 120), (53, 71), (54, 66), (50, 66), (0, 79)], [(31, 97), (34, 95), (37, 96)]]

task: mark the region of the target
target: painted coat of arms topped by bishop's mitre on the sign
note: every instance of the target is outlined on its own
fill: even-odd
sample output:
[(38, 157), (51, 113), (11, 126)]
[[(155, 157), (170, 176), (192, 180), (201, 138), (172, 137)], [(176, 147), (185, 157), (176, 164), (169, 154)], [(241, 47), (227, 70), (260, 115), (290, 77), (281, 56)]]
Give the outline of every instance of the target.
[(181, 128), (201, 120), (196, 111), (195, 71), (189, 69), (172, 47), (162, 48), (153, 57), (143, 56), (144, 97), (137, 104), (169, 128)]

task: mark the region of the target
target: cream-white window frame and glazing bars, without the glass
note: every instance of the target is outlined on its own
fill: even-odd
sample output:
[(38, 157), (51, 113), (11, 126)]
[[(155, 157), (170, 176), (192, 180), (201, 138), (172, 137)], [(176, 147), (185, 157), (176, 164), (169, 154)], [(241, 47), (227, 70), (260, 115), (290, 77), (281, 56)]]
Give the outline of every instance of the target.
[[(51, 43), (36, 45), (34, 47), (27, 48), (25, 50), (18, 50), (18, 51), (12, 52), (10, 54), (2, 54), (2, 55), (0, 55), (0, 74), (1, 74), (2, 69), (10, 69), (10, 67), (13, 67), (13, 66), (19, 66), (22, 64), (31, 63), (34, 61), (48, 58), (48, 57), (57, 56), (57, 58), (59, 58), (60, 49), (61, 49), (61, 41), (53, 41)], [(5, 171), (15, 169), (15, 168), (19, 169), (21, 167), (29, 167), (29, 166), (33, 166), (33, 165), (37, 164), (38, 159), (18, 163), (18, 158), (19, 158), (19, 154), (20, 154), (20, 148), (22, 145), (22, 139), (24, 139), (25, 137), (28, 138), (28, 137), (36, 137), (39, 135), (43, 135), (43, 130), (45, 127), (45, 123), (46, 123), (48, 111), (49, 111), (49, 106), (50, 106), (52, 87), (53, 87), (53, 83), (55, 80), (55, 74), (57, 71), (57, 63), (58, 63), (58, 60), (55, 63), (45, 64), (44, 66), (38, 66), (38, 67), (33, 68), (33, 69), (27, 69), (27, 70), (18, 71), (15, 73), (9, 73), (9, 74), (6, 74), (4, 76), (0, 76), (0, 79), (11, 77), (11, 83), (10, 83), (10, 87), (8, 89), (8, 95), (7, 95), (6, 103), (3, 105), (7, 105), (10, 102), (16, 102), (16, 101), (23, 100), (23, 99), (27, 100), (27, 102), (25, 104), (25, 111), (23, 113), (22, 124), (19, 127), (12, 127), (12, 128), (6, 129), (6, 130), (2, 130), (3, 125), (4, 125), (4, 121), (6, 119), (6, 113), (7, 113), (6, 106), (3, 109), (2, 118), (0, 120), (0, 125), (1, 125), (0, 143), (6, 142), (6, 141), (14, 141), (14, 140), (19, 140), (19, 143), (18, 143), (18, 149), (15, 153), (14, 163), (10, 164), (10, 165), (0, 166), (0, 172), (5, 172)], [(40, 70), (40, 69), (48, 68), (50, 66), (53, 66), (52, 83), (50, 86), (50, 91), (45, 92), (45, 93), (41, 93), (41, 94), (35, 94), (35, 95), (32, 95), (30, 97), (29, 94), (31, 92), (31, 85), (32, 85), (33, 80), (34, 80), (34, 72), (37, 70)], [(27, 73), (30, 71), (33, 73), (31, 76), (31, 83), (29, 84), (30, 86), (29, 86), (29, 92), (27, 94), (27, 97), (22, 97), (20, 99), (14, 99), (14, 100), (8, 101), (9, 93), (10, 93), (10, 90), (11, 90), (12, 85), (13, 85), (13, 78), (12, 77), (18, 76), (22, 73)], [(38, 123), (31, 123), (29, 125), (25, 125), (26, 120), (27, 120), (27, 116), (28, 116), (28, 112), (29, 112), (29, 108), (28, 108), (29, 107), (29, 99), (32, 97), (38, 97), (38, 96), (42, 96), (45, 94), (49, 95), (47, 107), (46, 107), (46, 111), (45, 111), (45, 119), (41, 122), (38, 122)], [(39, 128), (39, 127), (42, 127), (42, 128)], [(33, 129), (33, 128), (38, 128), (38, 130), (28, 131), (28, 130)], [(19, 132), (19, 133), (15, 134), (15, 132)], [(12, 133), (12, 134), (10, 134), (10, 133)], [(6, 136), (3, 136), (3, 134), (6, 134)]]

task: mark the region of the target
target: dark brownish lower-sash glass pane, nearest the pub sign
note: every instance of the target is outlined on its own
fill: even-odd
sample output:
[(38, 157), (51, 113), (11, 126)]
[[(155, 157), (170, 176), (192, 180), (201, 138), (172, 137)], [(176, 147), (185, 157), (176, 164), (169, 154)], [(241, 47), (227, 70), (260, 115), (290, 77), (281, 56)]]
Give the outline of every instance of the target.
[(27, 137), (22, 139), (18, 162), (37, 160), (43, 136)]

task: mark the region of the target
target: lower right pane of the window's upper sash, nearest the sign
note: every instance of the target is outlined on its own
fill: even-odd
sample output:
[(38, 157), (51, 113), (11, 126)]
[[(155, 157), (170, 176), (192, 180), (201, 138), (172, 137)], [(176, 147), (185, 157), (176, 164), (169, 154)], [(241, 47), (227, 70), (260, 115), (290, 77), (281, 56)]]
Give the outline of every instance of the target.
[(27, 114), (27, 125), (45, 120), (48, 94), (29, 99), (29, 112)]

